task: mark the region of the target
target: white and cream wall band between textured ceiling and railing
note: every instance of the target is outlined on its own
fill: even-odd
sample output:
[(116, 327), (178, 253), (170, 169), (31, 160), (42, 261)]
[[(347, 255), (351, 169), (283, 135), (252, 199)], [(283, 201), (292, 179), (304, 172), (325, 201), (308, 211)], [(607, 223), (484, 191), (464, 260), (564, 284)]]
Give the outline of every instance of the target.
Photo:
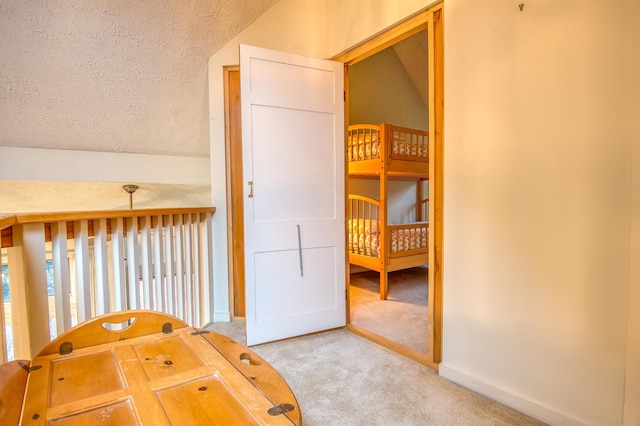
[(0, 213), (211, 205), (208, 158), (0, 147)]

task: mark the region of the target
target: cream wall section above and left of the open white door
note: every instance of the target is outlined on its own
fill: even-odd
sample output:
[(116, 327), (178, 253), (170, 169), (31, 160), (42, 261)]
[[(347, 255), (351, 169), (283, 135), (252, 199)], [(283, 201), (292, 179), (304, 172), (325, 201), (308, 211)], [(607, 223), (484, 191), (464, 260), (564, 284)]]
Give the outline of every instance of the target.
[(424, 9), (425, 0), (280, 0), (209, 59), (214, 216), (214, 319), (230, 318), (222, 67), (238, 64), (239, 44), (331, 58)]

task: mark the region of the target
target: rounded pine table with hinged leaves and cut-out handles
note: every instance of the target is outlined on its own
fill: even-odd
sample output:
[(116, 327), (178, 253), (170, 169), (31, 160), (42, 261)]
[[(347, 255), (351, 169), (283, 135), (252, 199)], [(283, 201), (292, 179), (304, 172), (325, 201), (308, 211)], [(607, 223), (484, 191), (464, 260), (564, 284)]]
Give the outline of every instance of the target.
[(22, 425), (301, 424), (293, 392), (258, 355), (156, 312), (80, 324), (28, 368)]

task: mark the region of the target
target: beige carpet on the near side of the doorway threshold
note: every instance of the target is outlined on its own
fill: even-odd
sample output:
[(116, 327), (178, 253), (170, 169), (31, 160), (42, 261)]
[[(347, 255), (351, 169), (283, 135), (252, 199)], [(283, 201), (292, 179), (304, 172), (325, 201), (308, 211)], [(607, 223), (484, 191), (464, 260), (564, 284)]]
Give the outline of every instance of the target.
[[(244, 339), (244, 321), (208, 329)], [(345, 330), (254, 346), (293, 390), (305, 426), (539, 425)]]

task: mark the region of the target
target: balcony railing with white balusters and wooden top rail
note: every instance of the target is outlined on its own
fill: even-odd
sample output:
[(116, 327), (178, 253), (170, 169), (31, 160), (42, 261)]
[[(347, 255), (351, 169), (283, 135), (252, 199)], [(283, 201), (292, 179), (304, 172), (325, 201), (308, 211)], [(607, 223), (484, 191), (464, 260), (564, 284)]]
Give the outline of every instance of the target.
[(0, 217), (0, 362), (31, 359), (95, 316), (153, 309), (195, 327), (213, 312), (215, 207)]

